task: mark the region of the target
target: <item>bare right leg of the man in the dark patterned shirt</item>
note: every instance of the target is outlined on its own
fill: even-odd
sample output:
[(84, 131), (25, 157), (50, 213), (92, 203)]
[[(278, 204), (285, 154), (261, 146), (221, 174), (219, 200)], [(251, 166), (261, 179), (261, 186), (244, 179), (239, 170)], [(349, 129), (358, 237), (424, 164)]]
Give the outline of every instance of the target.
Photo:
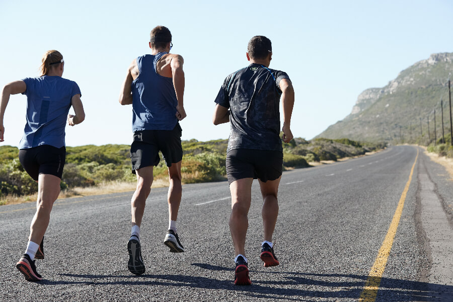
[(275, 223), (278, 216), (278, 185), (281, 176), (276, 180), (268, 180), (267, 182), (260, 182), (261, 195), (263, 195), (263, 208), (261, 215), (263, 217), (264, 240), (272, 242), (272, 235), (274, 234)]

